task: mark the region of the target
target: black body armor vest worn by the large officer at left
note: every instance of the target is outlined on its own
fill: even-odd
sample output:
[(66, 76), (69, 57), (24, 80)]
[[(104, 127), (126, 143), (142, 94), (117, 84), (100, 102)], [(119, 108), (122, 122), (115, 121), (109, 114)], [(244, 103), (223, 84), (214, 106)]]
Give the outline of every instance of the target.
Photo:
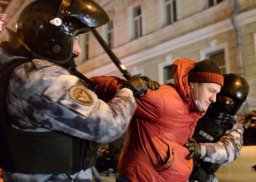
[[(74, 174), (96, 163), (100, 143), (57, 131), (27, 132), (10, 126), (5, 103), (9, 75), (28, 60), (12, 60), (0, 80), (0, 168), (13, 173)], [(4, 76), (4, 77), (3, 77)]]

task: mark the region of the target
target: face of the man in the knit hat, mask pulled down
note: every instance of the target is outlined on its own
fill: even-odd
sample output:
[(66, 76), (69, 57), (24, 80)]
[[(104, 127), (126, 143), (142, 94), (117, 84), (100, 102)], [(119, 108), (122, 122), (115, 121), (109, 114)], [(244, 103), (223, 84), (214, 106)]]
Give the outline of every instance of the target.
[[(216, 101), (216, 94), (220, 92), (221, 86), (217, 83), (195, 83), (190, 82), (195, 100), (200, 100), (201, 107), (207, 110), (211, 102)], [(198, 92), (198, 97), (197, 97)]]

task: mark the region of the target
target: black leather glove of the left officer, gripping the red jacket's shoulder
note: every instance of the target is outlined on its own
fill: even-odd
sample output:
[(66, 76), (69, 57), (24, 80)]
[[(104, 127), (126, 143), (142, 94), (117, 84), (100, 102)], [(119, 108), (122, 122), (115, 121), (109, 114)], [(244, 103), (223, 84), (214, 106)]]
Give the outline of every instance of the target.
[(121, 88), (129, 88), (135, 98), (143, 97), (148, 90), (148, 83), (135, 75), (127, 80)]

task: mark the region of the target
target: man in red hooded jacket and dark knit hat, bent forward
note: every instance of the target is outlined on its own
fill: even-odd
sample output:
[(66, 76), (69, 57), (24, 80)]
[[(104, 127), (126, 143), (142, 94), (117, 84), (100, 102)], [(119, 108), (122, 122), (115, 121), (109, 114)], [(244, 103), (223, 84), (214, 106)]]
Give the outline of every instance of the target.
[[(193, 160), (183, 145), (223, 85), (220, 68), (213, 61), (186, 58), (173, 63), (174, 82), (148, 90), (137, 98), (137, 109), (119, 158), (117, 182), (184, 182)], [(94, 77), (97, 95), (115, 94), (121, 79)]]

